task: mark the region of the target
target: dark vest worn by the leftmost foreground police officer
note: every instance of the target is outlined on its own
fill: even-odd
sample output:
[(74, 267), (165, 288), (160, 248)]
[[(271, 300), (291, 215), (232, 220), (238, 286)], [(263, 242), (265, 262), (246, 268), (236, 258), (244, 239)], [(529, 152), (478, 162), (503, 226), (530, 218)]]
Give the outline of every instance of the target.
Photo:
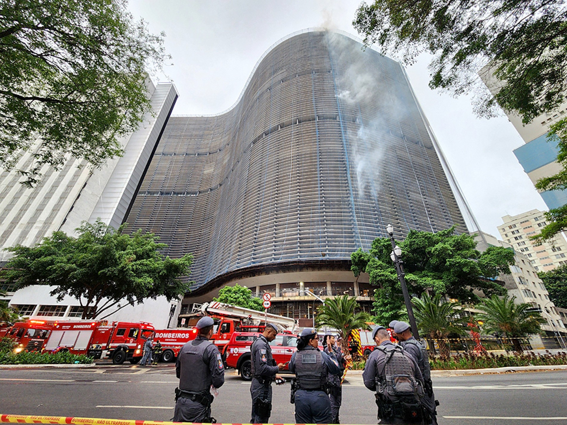
[[(202, 341), (198, 345), (195, 342)], [(184, 391), (209, 391), (213, 379), (209, 371), (209, 362), (205, 351), (213, 343), (206, 340), (194, 339), (183, 346), (181, 356), (181, 370), (179, 374), (179, 388)]]

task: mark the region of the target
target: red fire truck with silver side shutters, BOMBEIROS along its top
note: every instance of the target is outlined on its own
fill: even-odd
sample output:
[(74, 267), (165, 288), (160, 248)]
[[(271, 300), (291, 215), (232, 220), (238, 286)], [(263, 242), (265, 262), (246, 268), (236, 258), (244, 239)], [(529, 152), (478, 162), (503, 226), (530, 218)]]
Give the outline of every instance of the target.
[(60, 321), (53, 325), (43, 350), (86, 354), (95, 359), (106, 351), (114, 364), (125, 360), (138, 363), (144, 343), (153, 334), (154, 326), (147, 322)]

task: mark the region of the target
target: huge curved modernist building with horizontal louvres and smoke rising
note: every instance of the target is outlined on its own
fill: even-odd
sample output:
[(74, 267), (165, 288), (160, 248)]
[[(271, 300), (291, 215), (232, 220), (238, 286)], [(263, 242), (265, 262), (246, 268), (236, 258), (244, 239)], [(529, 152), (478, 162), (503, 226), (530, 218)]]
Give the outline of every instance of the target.
[(261, 58), (229, 111), (170, 118), (126, 221), (193, 253), (182, 315), (239, 282), (308, 317), (293, 304), (307, 287), (370, 302), (350, 254), (388, 223), (400, 239), (467, 231), (441, 160), (399, 63), (307, 31)]

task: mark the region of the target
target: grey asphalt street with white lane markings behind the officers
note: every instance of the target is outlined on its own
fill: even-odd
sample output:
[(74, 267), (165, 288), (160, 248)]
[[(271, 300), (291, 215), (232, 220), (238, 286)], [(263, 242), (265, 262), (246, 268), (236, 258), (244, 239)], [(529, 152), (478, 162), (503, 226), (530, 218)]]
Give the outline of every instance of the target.
[[(172, 365), (0, 368), (0, 414), (170, 420), (176, 385)], [(227, 371), (213, 403), (219, 423), (249, 422), (249, 386)], [(567, 424), (567, 371), (443, 377), (434, 390), (441, 424)], [(289, 384), (274, 385), (270, 422), (294, 422), (289, 392)], [(341, 422), (377, 422), (374, 395), (361, 376), (344, 385)]]

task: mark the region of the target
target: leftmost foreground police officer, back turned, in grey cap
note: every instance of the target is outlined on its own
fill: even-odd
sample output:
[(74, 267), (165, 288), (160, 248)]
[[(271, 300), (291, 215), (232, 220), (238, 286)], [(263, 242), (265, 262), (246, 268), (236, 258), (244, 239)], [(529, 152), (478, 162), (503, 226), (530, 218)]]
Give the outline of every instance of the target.
[(213, 319), (202, 317), (195, 328), (198, 335), (187, 342), (177, 355), (175, 371), (179, 388), (175, 389), (175, 422), (216, 422), (211, 418), (211, 385), (219, 388), (225, 383), (225, 367), (213, 335)]

